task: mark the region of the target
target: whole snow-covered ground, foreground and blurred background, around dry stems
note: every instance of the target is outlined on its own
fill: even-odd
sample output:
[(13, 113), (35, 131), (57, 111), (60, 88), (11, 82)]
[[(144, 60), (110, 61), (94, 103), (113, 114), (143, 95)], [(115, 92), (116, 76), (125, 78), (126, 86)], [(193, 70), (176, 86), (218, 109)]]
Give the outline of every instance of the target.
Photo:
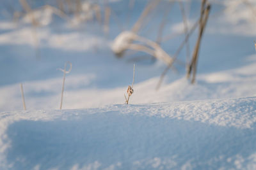
[[(118, 10), (128, 1), (111, 1), (116, 16), (129, 22), (111, 18), (108, 35), (97, 22), (74, 27), (47, 10), (38, 11), (44, 26), (36, 28), (26, 16), (16, 24), (1, 16), (0, 169), (256, 168), (252, 11), (243, 3), (211, 1), (195, 85), (185, 78), (184, 48), (175, 71), (156, 90), (163, 62), (144, 53), (117, 59), (110, 49), (122, 28), (131, 29), (145, 2), (138, 1), (128, 15), (129, 10)], [(160, 4), (140, 36), (156, 39), (152, 25), (168, 5)], [(164, 37), (183, 30), (176, 7)], [(189, 25), (199, 7), (193, 1)], [(175, 53), (183, 39), (163, 42), (163, 49)], [(191, 45), (195, 41), (191, 36)], [(134, 60), (138, 56), (146, 59)], [(63, 73), (57, 69), (67, 61), (72, 71), (60, 111)], [(127, 106), (124, 93), (134, 62), (134, 94)]]

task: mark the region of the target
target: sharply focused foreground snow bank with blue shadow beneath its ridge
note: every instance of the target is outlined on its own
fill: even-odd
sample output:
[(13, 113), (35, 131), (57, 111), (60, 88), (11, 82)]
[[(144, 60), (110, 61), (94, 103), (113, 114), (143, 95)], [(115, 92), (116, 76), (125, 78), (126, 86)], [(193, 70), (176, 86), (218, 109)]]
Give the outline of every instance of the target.
[(3, 112), (1, 169), (255, 169), (256, 97)]

